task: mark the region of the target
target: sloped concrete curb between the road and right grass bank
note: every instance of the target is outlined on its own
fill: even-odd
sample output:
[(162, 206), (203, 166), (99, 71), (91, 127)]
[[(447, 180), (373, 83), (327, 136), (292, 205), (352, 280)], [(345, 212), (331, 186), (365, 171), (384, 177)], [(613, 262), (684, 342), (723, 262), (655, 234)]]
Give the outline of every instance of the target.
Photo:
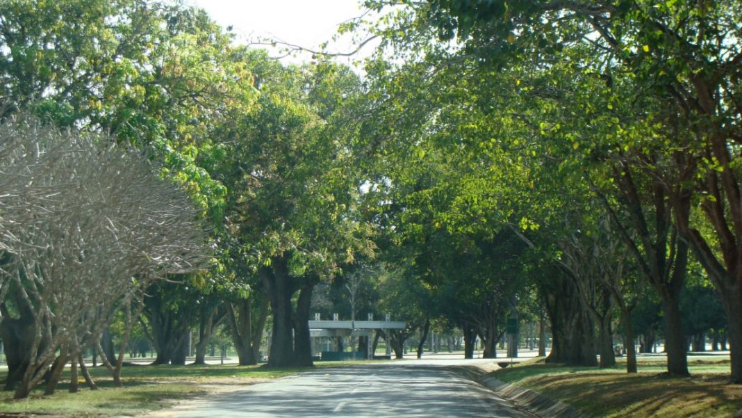
[(510, 385), (487, 376), (478, 379), (477, 382), (538, 417), (585, 418), (579, 411), (564, 402), (555, 401), (530, 389)]

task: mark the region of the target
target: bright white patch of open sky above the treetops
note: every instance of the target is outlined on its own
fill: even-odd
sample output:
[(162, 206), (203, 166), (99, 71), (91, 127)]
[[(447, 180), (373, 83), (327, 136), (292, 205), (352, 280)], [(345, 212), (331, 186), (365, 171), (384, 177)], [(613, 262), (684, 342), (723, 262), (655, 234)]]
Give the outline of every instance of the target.
[[(272, 38), (304, 48), (318, 48), (337, 33), (338, 25), (361, 16), (359, 0), (187, 0), (206, 10), (223, 27), (232, 25), (237, 42)], [(352, 50), (349, 40), (332, 48)], [(278, 52), (272, 55), (278, 56)], [(291, 62), (308, 60), (305, 55)]]

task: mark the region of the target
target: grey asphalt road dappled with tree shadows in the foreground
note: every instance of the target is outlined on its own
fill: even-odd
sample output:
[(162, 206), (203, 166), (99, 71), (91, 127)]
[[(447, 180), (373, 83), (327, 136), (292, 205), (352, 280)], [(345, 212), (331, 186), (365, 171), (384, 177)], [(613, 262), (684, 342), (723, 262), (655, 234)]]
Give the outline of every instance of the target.
[(390, 364), (313, 370), (185, 402), (166, 416), (533, 418), (445, 367)]

